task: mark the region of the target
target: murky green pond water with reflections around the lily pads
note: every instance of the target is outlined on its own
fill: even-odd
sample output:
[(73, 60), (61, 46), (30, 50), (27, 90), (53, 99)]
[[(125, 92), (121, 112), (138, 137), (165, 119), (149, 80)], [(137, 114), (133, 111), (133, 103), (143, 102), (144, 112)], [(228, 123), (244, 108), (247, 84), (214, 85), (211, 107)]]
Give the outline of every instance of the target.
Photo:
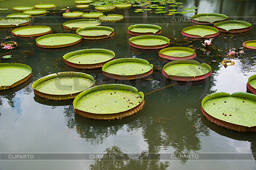
[[(16, 88), (0, 91), (1, 159), (4, 157), (3, 153), (10, 153), (12, 156), (15, 153), (34, 154), (41, 159), (45, 157), (39, 153), (66, 154), (48, 155), (45, 160), (0, 160), (0, 169), (256, 169), (256, 157), (253, 154), (256, 152), (255, 133), (240, 133), (218, 127), (205, 120), (201, 112), (201, 102), (206, 95), (220, 91), (230, 94), (236, 91), (246, 92), (246, 82), (256, 72), (255, 51), (244, 49), (245, 54), (232, 58), (235, 64), (227, 68), (221, 65), (221, 61), (228, 58), (229, 49), (236, 49), (238, 52), (242, 49), (243, 42), (256, 39), (256, 2), (177, 2), (183, 3), (184, 8), (198, 9), (193, 13), (172, 16), (166, 13), (134, 13), (140, 7), (104, 12), (125, 17), (122, 22), (115, 24), (102, 23), (102, 26), (113, 27), (115, 36), (98, 42), (83, 41), (67, 49), (38, 49), (35, 40), (13, 37), (12, 28), (1, 28), (1, 43), (14, 41), (18, 44), (16, 49), (1, 50), (1, 56), (12, 55), (9, 59), (1, 58), (1, 63), (24, 63), (33, 70), (33, 77), (29, 81)], [(44, 17), (33, 18), (32, 25), (50, 26), (52, 33), (75, 33), (63, 29), (62, 24), (71, 19), (63, 18), (60, 13), (60, 8), (67, 6), (72, 11), (83, 11), (76, 9), (74, 1), (4, 0), (0, 2), (1, 8), (8, 10), (0, 11), (0, 17), (15, 13), (12, 10), (14, 6), (33, 6), (38, 3), (55, 3), (57, 8), (54, 11), (48, 10), (49, 13)], [(93, 10), (94, 6), (88, 9)], [(177, 8), (166, 5), (166, 11), (172, 9)], [(190, 17), (196, 13), (223, 13), (229, 20), (250, 22), (252, 29), (238, 35), (221, 33), (212, 40), (212, 46), (207, 52), (202, 46), (203, 40), (186, 40), (181, 34), (184, 27), (191, 26)], [(159, 59), (157, 51), (130, 47), (127, 28), (132, 24), (161, 26), (161, 35), (171, 40), (170, 47), (195, 49), (196, 60), (212, 67), (211, 77), (193, 84), (176, 84), (175, 81), (164, 79), (161, 69), (167, 61)], [(100, 69), (71, 68), (62, 58), (67, 52), (92, 48), (113, 50), (116, 58), (147, 59), (154, 65), (154, 73), (139, 81), (113, 81), (104, 77)], [(129, 118), (97, 121), (76, 114), (72, 100), (56, 102), (35, 96), (31, 87), (33, 82), (50, 73), (63, 71), (89, 73), (95, 77), (97, 84), (121, 83), (135, 86), (145, 94), (145, 106)], [(161, 90), (150, 93), (157, 89)], [(36, 156), (36, 153), (39, 155)], [(190, 158), (180, 156), (189, 153), (198, 154), (199, 158), (192, 158), (192, 155)], [(228, 155), (225, 157), (220, 153)], [(243, 156), (241, 153), (248, 155)], [(97, 155), (109, 156), (108, 154), (115, 158), (97, 159)]]

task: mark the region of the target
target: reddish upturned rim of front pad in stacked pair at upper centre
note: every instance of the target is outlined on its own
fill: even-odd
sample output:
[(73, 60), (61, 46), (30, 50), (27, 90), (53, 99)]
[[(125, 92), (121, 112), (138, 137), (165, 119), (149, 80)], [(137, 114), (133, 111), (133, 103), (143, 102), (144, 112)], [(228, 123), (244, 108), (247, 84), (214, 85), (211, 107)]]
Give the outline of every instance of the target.
[[(163, 39), (166, 41), (166, 43), (163, 43), (161, 45), (138, 45), (136, 43), (133, 43), (132, 41), (138, 40), (138, 39), (148, 39), (148, 38), (157, 38), (157, 39)], [(141, 35), (141, 36), (134, 36), (129, 39), (129, 43), (132, 47), (136, 49), (163, 49), (164, 47), (168, 47), (170, 45), (170, 40), (165, 36), (159, 36), (159, 35)]]

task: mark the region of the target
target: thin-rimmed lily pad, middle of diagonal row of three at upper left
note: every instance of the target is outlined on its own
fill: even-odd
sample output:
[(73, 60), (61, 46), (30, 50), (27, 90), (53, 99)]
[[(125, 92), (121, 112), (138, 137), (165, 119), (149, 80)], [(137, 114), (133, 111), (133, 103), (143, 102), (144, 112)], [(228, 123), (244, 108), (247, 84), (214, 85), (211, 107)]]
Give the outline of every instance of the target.
[(51, 31), (51, 27), (48, 26), (27, 26), (13, 29), (12, 35), (20, 37), (41, 36), (51, 33)]

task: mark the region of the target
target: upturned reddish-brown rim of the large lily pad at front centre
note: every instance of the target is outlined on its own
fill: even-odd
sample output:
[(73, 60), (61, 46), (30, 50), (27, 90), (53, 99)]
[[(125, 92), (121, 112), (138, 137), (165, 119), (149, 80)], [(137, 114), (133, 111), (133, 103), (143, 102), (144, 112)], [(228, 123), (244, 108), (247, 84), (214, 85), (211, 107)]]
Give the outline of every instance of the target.
[[(120, 100), (118, 100), (118, 101), (124, 100), (124, 102), (123, 103), (121, 102), (120, 104), (124, 105), (124, 108), (127, 108), (126, 110), (123, 109), (124, 111), (113, 112), (113, 113), (111, 112), (105, 113), (104, 111), (102, 111), (102, 113), (95, 113), (95, 112), (83, 111), (83, 109), (77, 109), (77, 107), (79, 107), (78, 106), (79, 100), (82, 100), (84, 96), (89, 96), (90, 94), (95, 92), (97, 93), (97, 91), (108, 91), (108, 90), (113, 90), (113, 93), (111, 93), (111, 95), (118, 94), (118, 91), (127, 91), (127, 95), (125, 95), (126, 99), (123, 96), (122, 98), (120, 98)], [(128, 102), (130, 101), (128, 99), (131, 96), (129, 95), (130, 93), (132, 93), (133, 97), (135, 97), (135, 95), (133, 94), (137, 94), (135, 98), (136, 100), (139, 100), (138, 102), (139, 104), (133, 104), (132, 102)], [(104, 93), (102, 93), (102, 95), (104, 95)], [(125, 100), (127, 100), (127, 102), (125, 102)], [(131, 109), (128, 109), (130, 105), (129, 103), (132, 103), (130, 107)], [(93, 103), (92, 107), (93, 105), (97, 105), (97, 104), (98, 103), (95, 103), (95, 104)], [(141, 109), (143, 109), (145, 105), (145, 100), (144, 100), (143, 93), (138, 92), (138, 89), (132, 86), (127, 86), (125, 84), (104, 84), (104, 85), (95, 86), (93, 88), (87, 89), (82, 93), (80, 93), (79, 95), (77, 95), (77, 97), (74, 99), (73, 105), (74, 105), (75, 112), (80, 116), (83, 116), (84, 118), (90, 118), (94, 120), (116, 120), (116, 119), (125, 118), (128, 116), (132, 116), (132, 114), (139, 112)], [(134, 107), (133, 105), (136, 105), (136, 106)]]

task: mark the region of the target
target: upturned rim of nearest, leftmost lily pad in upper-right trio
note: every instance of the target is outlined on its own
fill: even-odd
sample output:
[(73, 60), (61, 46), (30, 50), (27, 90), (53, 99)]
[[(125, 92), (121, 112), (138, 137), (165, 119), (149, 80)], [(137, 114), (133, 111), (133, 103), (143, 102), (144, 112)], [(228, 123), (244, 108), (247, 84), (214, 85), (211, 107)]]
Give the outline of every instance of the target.
[[(200, 36), (200, 35), (196, 35), (196, 34), (188, 34), (186, 33), (187, 30), (189, 29), (194, 29), (194, 28), (204, 28), (204, 29), (212, 29), (214, 30), (216, 33), (211, 34), (211, 35), (205, 35), (205, 36)], [(195, 25), (195, 26), (189, 26), (189, 27), (185, 27), (184, 29), (182, 29), (182, 35), (184, 36), (188, 36), (189, 38), (212, 38), (214, 36), (218, 36), (220, 34), (219, 30), (211, 27), (211, 26), (204, 26), (204, 25)]]

